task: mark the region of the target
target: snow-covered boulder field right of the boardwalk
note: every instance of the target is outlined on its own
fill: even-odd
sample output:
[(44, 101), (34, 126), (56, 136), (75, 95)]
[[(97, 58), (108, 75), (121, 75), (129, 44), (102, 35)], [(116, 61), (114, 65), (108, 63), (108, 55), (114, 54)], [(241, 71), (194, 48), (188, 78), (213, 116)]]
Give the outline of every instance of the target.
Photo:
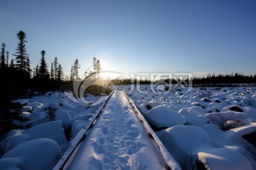
[[(256, 88), (112, 86), (127, 91), (182, 169), (256, 169)], [(254, 137), (255, 138), (255, 137)]]

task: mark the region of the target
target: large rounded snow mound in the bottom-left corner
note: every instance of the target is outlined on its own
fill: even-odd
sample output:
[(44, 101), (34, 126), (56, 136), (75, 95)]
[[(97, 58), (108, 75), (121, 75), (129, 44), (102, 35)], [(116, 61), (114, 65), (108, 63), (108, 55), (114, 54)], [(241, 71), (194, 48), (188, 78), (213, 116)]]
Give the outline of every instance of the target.
[(60, 159), (58, 143), (50, 139), (23, 142), (0, 159), (0, 169), (53, 169)]

